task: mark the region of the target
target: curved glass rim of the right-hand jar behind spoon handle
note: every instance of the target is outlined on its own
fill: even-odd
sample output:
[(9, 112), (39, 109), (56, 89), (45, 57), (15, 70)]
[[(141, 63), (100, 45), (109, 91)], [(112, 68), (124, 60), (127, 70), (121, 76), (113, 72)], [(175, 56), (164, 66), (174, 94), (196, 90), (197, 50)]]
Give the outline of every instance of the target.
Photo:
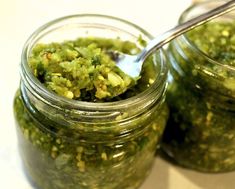
[[(188, 14), (193, 11), (194, 9), (200, 7), (200, 6), (205, 6), (207, 4), (223, 4), (226, 3), (226, 0), (218, 0), (218, 1), (204, 1), (204, 2), (199, 2), (199, 3), (195, 3), (191, 6), (189, 6), (187, 9), (184, 10), (184, 12), (180, 15), (179, 19), (178, 19), (178, 24), (182, 24), (183, 22), (187, 21), (186, 17), (188, 16)], [(229, 14), (229, 13), (227, 13)], [(230, 13), (231, 14), (231, 13)], [(213, 21), (213, 20), (212, 20)], [(223, 67), (224, 69), (227, 70), (231, 70), (231, 71), (235, 71), (235, 67), (232, 65), (227, 65), (227, 64), (223, 64), (215, 59), (213, 59), (211, 56), (209, 56), (208, 54), (206, 54), (205, 52), (203, 52), (202, 50), (200, 50), (197, 45), (195, 45), (187, 36), (186, 34), (183, 34), (182, 36), (182, 40), (184, 40), (184, 42), (195, 52), (197, 52), (200, 56), (204, 57), (206, 60), (208, 60), (208, 62), (211, 62), (213, 64), (216, 64), (220, 67)]]

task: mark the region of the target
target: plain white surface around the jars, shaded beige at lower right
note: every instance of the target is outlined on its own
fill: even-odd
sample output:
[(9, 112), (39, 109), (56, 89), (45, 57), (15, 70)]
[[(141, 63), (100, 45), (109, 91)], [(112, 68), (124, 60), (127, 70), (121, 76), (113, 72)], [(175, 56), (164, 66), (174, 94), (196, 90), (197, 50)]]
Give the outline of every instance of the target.
[[(0, 188), (30, 189), (20, 166), (12, 102), (21, 49), (40, 25), (77, 13), (124, 18), (153, 35), (173, 27), (190, 0), (0, 0)], [(156, 158), (141, 189), (234, 189), (235, 173), (202, 174)]]

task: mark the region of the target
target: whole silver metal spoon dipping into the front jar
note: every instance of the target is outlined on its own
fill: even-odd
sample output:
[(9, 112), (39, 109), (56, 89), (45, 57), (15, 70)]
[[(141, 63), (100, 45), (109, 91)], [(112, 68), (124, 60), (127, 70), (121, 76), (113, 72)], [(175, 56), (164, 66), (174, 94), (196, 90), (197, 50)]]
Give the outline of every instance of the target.
[(142, 65), (145, 59), (155, 50), (161, 48), (166, 43), (175, 39), (179, 35), (198, 27), (205, 22), (217, 18), (225, 13), (232, 11), (235, 8), (235, 0), (229, 1), (207, 13), (195, 17), (187, 22), (180, 24), (162, 35), (151, 40), (148, 45), (137, 55), (127, 55), (121, 52), (109, 52), (114, 57), (117, 66), (127, 75), (138, 77), (140, 75)]

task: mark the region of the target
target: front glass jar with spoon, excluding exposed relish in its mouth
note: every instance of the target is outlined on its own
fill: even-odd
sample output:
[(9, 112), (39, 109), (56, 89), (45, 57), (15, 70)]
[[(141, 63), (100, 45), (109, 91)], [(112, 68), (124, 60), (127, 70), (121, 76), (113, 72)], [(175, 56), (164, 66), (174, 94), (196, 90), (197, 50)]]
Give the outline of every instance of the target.
[(151, 38), (125, 20), (74, 15), (49, 22), (28, 39), (14, 112), (20, 154), (33, 184), (43, 189), (135, 189), (144, 181), (168, 117), (163, 50), (154, 55), (153, 84), (116, 102), (58, 96), (34, 77), (28, 65), (37, 43), (87, 36), (136, 42), (140, 35), (147, 41)]

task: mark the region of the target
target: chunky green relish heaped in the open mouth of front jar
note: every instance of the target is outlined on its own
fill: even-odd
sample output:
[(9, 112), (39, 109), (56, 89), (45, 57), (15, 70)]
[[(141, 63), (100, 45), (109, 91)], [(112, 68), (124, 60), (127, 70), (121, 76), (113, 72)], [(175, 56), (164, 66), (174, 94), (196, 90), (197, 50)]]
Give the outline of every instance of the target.
[(126, 92), (139, 79), (123, 73), (107, 53), (110, 50), (139, 51), (134, 43), (120, 39), (79, 38), (37, 44), (29, 65), (41, 83), (61, 96), (82, 101), (109, 100)]

